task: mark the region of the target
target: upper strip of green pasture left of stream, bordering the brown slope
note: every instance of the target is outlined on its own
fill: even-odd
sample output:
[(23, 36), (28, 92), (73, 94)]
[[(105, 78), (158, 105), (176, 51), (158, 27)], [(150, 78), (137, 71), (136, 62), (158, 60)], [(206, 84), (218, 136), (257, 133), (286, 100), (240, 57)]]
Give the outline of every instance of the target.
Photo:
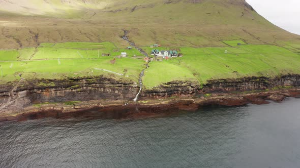
[(102, 54), (111, 56), (126, 52), (128, 56), (140, 55), (136, 49), (118, 49), (110, 42), (103, 43), (42, 43), (38, 48), (18, 50), (0, 50), (0, 61), (42, 60), (42, 59), (78, 59), (100, 58)]

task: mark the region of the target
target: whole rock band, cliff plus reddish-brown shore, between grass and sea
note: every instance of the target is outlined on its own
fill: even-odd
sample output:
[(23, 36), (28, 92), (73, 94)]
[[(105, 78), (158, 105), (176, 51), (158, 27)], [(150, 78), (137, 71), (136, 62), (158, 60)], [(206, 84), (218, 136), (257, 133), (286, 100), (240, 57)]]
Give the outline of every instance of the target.
[[(285, 89), (278, 86), (285, 86)], [(299, 98), (299, 86), (298, 74), (275, 78), (212, 79), (202, 87), (195, 81), (171, 81), (159, 87), (144, 88), (140, 100), (144, 100), (145, 103), (134, 103), (130, 101), (138, 93), (139, 87), (132, 80), (116, 80), (104, 75), (62, 80), (21, 80), (0, 85), (0, 120), (61, 118), (68, 117), (71, 113), (75, 116), (98, 116), (97, 112), (115, 113), (123, 117), (123, 113), (136, 114), (136, 111), (136, 115), (144, 115), (197, 110), (201, 105), (266, 104), (263, 100), (266, 98), (276, 102), (285, 97)], [(274, 89), (276, 87), (278, 90)], [(79, 103), (65, 104), (70, 101)], [(124, 106), (125, 102), (129, 102), (129, 105)], [(97, 112), (89, 112), (91, 110)]]

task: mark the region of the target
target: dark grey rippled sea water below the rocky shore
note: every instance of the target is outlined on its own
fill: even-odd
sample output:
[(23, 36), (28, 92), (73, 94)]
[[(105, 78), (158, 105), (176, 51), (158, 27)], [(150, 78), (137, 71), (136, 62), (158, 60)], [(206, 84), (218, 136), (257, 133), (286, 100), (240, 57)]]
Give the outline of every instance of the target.
[(0, 122), (0, 167), (300, 167), (300, 99), (148, 118)]

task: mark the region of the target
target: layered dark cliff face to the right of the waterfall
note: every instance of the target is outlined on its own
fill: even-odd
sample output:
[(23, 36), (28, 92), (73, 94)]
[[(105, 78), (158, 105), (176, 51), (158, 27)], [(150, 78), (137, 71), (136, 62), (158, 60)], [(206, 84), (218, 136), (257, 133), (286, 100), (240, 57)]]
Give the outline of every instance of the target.
[(237, 79), (208, 80), (202, 88), (193, 82), (172, 81), (157, 89), (145, 90), (143, 97), (189, 96), (197, 93), (226, 93), (272, 89), (279, 86), (300, 86), (300, 75), (284, 75), (275, 78), (244, 77)]

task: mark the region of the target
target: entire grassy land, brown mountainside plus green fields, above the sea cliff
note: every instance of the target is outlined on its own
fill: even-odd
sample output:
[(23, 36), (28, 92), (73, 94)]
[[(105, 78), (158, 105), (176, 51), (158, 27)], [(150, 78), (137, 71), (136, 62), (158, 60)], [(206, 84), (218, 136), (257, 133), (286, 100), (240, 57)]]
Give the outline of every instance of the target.
[[(126, 50), (124, 30), (148, 54), (160, 44), (184, 55), (149, 63), (145, 88), (300, 73), (300, 36), (244, 0), (10, 0), (0, 1), (0, 82), (100, 74), (137, 82), (145, 62)], [(129, 57), (114, 60), (121, 52)]]

